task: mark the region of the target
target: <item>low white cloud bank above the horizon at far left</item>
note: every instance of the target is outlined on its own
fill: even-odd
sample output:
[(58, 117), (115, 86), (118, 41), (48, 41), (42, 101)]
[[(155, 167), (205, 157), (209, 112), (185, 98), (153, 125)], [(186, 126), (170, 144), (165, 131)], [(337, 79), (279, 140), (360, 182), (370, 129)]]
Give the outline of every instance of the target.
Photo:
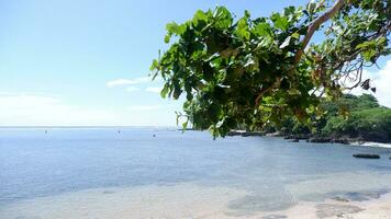
[(102, 125), (115, 120), (115, 114), (81, 108), (38, 94), (0, 94), (0, 106), (2, 126)]

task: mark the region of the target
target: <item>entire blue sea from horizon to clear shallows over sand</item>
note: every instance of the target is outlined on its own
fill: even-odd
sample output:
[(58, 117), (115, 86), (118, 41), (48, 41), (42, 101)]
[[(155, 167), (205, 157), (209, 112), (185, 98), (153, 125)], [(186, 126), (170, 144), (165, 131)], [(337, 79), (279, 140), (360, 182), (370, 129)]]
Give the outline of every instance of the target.
[[(353, 158), (360, 152), (381, 159)], [(0, 218), (191, 218), (206, 208), (236, 217), (360, 200), (391, 191), (390, 155), (167, 127), (1, 128)]]

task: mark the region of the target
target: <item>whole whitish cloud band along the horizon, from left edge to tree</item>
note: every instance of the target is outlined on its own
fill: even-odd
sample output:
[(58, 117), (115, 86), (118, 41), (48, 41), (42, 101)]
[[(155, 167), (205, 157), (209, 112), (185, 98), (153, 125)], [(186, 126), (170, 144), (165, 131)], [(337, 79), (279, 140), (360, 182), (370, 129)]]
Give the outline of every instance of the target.
[[(138, 99), (133, 101), (139, 103)], [(164, 100), (155, 105), (113, 108), (69, 104), (40, 93), (0, 92), (0, 126), (175, 126), (174, 112), (180, 108), (179, 102)]]

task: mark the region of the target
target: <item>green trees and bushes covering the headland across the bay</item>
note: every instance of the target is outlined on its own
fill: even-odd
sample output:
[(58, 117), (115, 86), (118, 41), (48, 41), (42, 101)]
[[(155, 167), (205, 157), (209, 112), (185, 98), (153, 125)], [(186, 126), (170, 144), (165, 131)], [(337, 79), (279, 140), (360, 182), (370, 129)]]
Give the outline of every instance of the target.
[[(348, 116), (339, 113), (342, 105)], [(324, 137), (364, 138), (372, 141), (391, 140), (391, 110), (380, 106), (375, 96), (345, 94), (338, 101), (324, 101), (320, 107), (325, 115), (312, 116), (311, 125), (299, 123), (292, 117), (283, 119), (281, 127), (269, 128), (286, 135), (319, 135)]]

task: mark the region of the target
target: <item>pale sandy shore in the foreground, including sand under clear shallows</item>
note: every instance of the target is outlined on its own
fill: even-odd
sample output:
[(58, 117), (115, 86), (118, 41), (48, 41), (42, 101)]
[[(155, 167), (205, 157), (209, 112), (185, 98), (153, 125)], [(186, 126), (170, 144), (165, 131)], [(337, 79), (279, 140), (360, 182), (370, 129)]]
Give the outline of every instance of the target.
[(194, 184), (97, 188), (41, 197), (0, 207), (1, 219), (391, 219), (391, 194), (365, 201), (345, 198), (305, 203), (280, 211), (231, 209), (248, 195), (228, 187)]

